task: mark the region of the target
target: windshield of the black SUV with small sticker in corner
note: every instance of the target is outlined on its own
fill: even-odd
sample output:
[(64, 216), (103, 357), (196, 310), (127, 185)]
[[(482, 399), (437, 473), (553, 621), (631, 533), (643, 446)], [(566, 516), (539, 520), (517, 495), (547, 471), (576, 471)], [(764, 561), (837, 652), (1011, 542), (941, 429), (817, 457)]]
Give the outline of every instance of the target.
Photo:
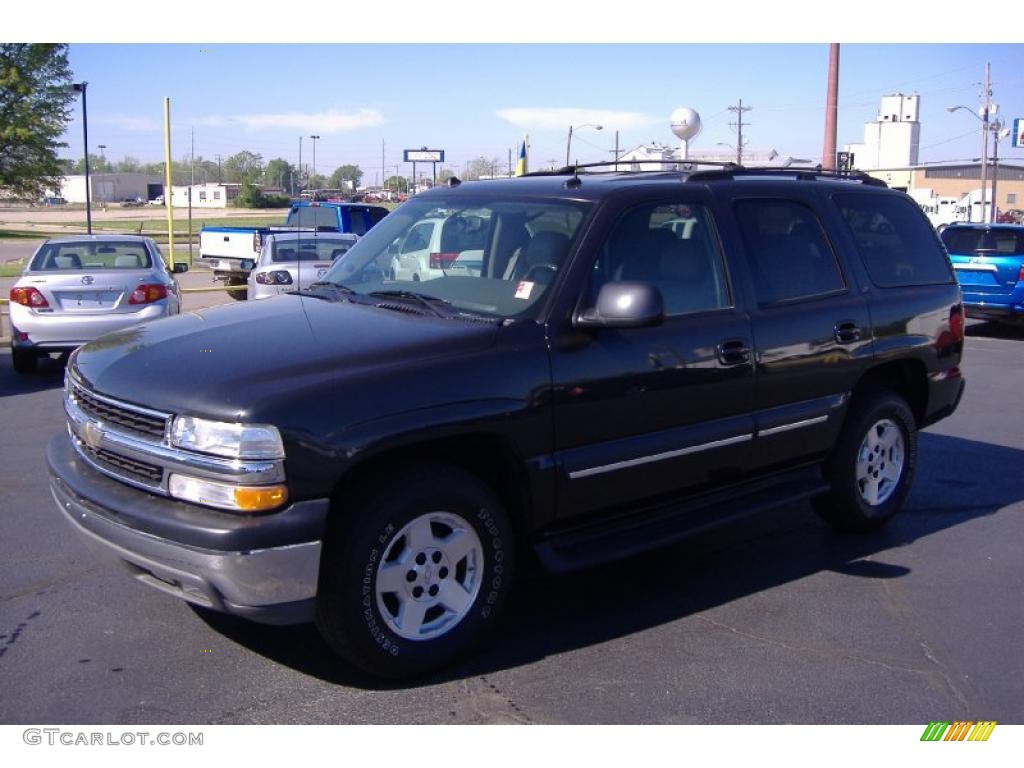
[(531, 316), (591, 204), (432, 197), (367, 232), (325, 275), (357, 295), (417, 293), (456, 310)]

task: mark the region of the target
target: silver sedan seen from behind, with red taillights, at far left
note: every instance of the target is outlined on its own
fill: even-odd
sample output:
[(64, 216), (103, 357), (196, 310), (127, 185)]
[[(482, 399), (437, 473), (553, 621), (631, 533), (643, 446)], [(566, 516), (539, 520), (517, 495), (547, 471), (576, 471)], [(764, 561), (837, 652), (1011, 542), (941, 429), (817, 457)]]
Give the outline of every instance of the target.
[[(184, 272), (187, 264), (175, 264)], [(157, 244), (134, 234), (56, 238), (43, 243), (10, 289), (11, 359), (31, 373), (42, 355), (102, 334), (177, 314), (178, 285)]]

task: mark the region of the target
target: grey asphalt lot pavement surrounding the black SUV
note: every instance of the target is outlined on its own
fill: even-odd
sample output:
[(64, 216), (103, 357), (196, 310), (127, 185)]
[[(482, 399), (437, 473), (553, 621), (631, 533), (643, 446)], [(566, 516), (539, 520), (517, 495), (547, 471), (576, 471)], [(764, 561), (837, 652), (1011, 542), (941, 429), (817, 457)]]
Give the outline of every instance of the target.
[(93, 554), (46, 480), (59, 367), (15, 377), (5, 351), (0, 722), (1020, 723), (1022, 361), (1024, 334), (971, 326), (964, 401), (922, 435), (881, 534), (839, 537), (802, 504), (534, 578), (473, 660), (386, 685), (311, 627), (199, 612)]

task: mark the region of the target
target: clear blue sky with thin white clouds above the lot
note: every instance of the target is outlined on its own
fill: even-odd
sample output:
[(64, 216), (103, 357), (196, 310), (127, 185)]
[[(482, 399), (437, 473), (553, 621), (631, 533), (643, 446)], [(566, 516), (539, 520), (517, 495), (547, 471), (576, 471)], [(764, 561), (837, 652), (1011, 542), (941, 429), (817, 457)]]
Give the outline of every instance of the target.
[[(89, 82), (89, 140), (117, 160), (163, 159), (163, 98), (171, 98), (172, 155), (207, 159), (241, 150), (264, 161), (298, 160), (299, 136), (318, 134), (316, 169), (354, 163), (364, 182), (401, 164), (401, 151), (446, 152), (462, 168), (473, 158), (507, 161), (524, 133), (531, 166), (564, 161), (570, 124), (604, 130), (573, 135), (582, 162), (608, 159), (614, 146), (675, 142), (668, 123), (695, 109), (703, 130), (693, 147), (735, 143), (742, 98), (748, 146), (820, 158), (828, 49), (802, 44), (72, 44), (76, 80)], [(1024, 116), (1024, 45), (843, 44), (839, 143), (862, 140), (879, 99), (921, 94), (922, 161), (980, 155), (980, 124), (946, 106), (977, 108), (986, 61), (993, 100), (1006, 118)], [(62, 153), (82, 151), (81, 111)], [(303, 141), (303, 161), (312, 160)], [(721, 150), (722, 147), (717, 147)], [(1000, 144), (1000, 157), (1024, 151)], [(408, 174), (411, 168), (401, 165)]]

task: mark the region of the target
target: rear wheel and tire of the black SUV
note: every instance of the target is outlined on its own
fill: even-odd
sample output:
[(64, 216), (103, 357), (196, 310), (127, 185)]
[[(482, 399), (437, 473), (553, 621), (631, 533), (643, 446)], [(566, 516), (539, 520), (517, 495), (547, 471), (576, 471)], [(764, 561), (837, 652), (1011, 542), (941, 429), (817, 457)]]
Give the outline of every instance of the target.
[(906, 401), (889, 390), (867, 393), (847, 415), (824, 467), (831, 489), (813, 500), (814, 510), (838, 530), (877, 530), (902, 508), (916, 464), (918, 430)]

